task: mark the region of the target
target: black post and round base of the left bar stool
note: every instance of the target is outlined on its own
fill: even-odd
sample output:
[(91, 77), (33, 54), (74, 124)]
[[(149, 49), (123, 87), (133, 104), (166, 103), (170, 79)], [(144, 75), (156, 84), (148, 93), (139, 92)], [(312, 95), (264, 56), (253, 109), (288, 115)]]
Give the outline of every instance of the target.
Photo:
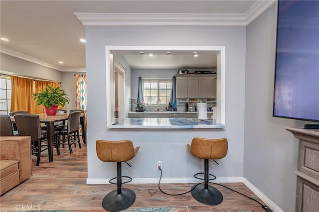
[(122, 189), (122, 163), (117, 162), (117, 190), (104, 197), (102, 207), (109, 212), (123, 211), (133, 205), (135, 197), (134, 191)]

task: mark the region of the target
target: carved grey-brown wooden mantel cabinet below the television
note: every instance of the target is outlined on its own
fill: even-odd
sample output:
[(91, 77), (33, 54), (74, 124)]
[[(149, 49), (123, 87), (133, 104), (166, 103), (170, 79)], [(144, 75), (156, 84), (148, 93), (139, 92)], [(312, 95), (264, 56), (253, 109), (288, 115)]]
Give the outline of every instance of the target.
[(287, 127), (299, 138), (296, 212), (319, 209), (319, 131)]

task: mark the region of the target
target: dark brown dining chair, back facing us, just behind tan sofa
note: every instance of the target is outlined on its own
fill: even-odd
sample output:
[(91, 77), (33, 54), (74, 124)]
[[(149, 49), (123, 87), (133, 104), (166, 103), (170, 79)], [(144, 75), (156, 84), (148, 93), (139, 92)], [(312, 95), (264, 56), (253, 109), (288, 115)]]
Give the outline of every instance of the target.
[[(41, 130), (39, 115), (35, 114), (18, 114), (14, 115), (16, 126), (18, 129), (18, 135), (31, 136), (31, 154), (37, 156), (36, 165), (40, 164), (41, 152), (48, 149), (47, 145), (47, 131)], [(58, 136), (55, 132), (54, 145), (57, 147)], [(60, 152), (56, 149), (57, 154)]]

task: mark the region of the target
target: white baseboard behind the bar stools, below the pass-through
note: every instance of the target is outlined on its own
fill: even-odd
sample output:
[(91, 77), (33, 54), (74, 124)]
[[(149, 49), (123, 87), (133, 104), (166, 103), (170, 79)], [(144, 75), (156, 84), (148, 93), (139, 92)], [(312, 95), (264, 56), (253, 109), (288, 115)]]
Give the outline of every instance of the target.
[[(111, 178), (87, 178), (86, 184), (110, 184)], [(132, 184), (158, 184), (160, 178), (133, 178)], [(196, 178), (162, 178), (160, 183), (198, 183), (201, 182)], [(218, 177), (214, 183), (242, 183), (242, 177)]]

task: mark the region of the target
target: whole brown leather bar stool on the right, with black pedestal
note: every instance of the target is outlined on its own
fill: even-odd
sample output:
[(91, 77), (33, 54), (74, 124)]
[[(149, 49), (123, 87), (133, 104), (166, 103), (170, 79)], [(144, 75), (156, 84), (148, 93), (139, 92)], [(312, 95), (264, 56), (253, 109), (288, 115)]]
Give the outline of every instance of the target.
[(197, 158), (204, 159), (204, 184), (193, 186), (191, 195), (195, 200), (209, 206), (223, 202), (223, 195), (218, 189), (208, 185), (208, 160), (221, 159), (227, 155), (228, 142), (226, 138), (207, 139), (193, 138), (191, 145), (187, 144), (190, 153)]

